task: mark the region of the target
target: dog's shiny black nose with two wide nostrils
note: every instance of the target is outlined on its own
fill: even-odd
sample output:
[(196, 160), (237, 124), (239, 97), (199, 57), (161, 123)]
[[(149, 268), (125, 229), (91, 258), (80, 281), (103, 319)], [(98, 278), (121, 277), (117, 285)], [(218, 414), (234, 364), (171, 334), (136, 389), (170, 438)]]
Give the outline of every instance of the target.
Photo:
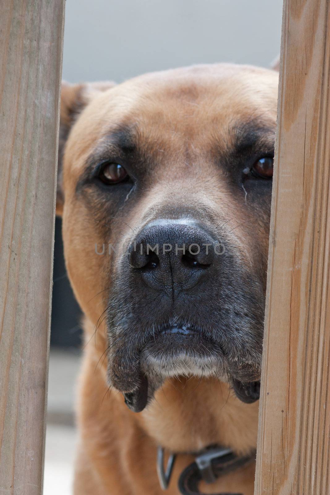
[(129, 262), (150, 288), (185, 291), (207, 276), (216, 247), (198, 225), (162, 220), (140, 232), (130, 246)]

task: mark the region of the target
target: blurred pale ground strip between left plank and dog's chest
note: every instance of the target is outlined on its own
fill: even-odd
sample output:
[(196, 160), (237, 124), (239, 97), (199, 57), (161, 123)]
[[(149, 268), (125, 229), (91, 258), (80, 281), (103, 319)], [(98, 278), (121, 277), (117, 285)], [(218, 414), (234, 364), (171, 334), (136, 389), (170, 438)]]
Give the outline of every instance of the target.
[(79, 367), (77, 352), (50, 351), (44, 495), (72, 495), (74, 391)]

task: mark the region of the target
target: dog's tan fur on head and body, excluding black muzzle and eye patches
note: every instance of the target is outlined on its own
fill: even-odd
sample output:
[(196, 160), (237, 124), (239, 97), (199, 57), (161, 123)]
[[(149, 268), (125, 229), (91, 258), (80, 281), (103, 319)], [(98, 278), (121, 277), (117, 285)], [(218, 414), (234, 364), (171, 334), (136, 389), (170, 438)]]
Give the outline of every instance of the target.
[[(235, 216), (237, 225), (249, 219), (248, 208), (229, 196), (221, 174), (215, 175), (209, 155), (216, 144), (231, 140), (235, 121), (261, 118), (276, 121), (277, 74), (249, 66), (219, 64), (147, 74), (105, 92), (94, 91), (69, 134), (63, 160), (63, 239), (70, 281), (85, 313), (84, 363), (77, 405), (80, 443), (76, 462), (75, 495), (161, 494), (156, 474), (156, 448), (182, 452), (178, 456), (169, 495), (177, 495), (177, 480), (192, 457), (184, 452), (210, 444), (232, 447), (246, 453), (256, 446), (258, 403), (244, 404), (216, 379), (168, 380), (141, 413), (130, 411), (122, 394), (106, 383), (106, 331), (98, 322), (109, 287), (109, 258), (96, 256), (101, 244), (96, 219), (86, 202), (77, 198), (76, 184), (96, 143), (118, 123), (137, 124), (139, 136), (149, 147), (158, 166), (150, 170), (148, 187), (135, 208), (112, 220), (111, 239), (126, 240), (131, 228), (139, 228), (147, 206), (193, 191), (196, 198), (213, 208), (221, 204), (219, 218)], [(79, 87), (79, 91), (85, 91)], [(75, 98), (72, 88), (63, 88), (62, 118)], [(64, 113), (64, 114), (63, 114)], [(216, 131), (215, 131), (216, 130)], [(156, 146), (155, 146), (156, 143)], [(187, 163), (189, 156), (189, 163)], [(192, 173), (192, 165), (193, 173)], [(188, 194), (187, 194), (188, 200)], [(243, 224), (232, 234), (242, 245), (246, 263), (258, 262), (249, 252), (248, 239), (257, 236), (260, 250), (267, 251), (258, 225), (253, 232)], [(251, 261), (252, 260), (252, 261)], [(96, 332), (95, 332), (96, 328)], [(95, 334), (94, 334), (95, 332)], [(201, 485), (205, 493), (253, 494), (254, 465)]]

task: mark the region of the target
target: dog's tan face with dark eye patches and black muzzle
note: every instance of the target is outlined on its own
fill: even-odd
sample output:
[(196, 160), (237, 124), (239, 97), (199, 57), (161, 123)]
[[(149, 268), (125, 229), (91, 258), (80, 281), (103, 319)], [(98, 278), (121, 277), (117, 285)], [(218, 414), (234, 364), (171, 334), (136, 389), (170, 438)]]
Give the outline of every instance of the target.
[(67, 268), (135, 410), (182, 374), (257, 398), (277, 86), (219, 64), (64, 88), (69, 112), (86, 104), (63, 159)]

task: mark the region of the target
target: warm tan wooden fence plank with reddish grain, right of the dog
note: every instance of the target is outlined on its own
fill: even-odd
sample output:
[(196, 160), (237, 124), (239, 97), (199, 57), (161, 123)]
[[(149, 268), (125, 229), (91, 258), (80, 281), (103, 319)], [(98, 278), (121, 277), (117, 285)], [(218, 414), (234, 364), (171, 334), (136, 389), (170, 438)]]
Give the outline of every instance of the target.
[(255, 495), (330, 494), (330, 4), (285, 0)]

